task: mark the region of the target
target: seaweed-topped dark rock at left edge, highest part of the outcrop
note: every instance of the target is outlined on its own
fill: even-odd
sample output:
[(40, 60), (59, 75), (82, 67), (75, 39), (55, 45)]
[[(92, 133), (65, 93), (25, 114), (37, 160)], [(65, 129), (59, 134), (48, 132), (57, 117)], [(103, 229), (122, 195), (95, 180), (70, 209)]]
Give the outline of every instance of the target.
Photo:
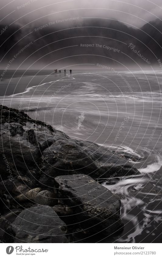
[(2, 122), (0, 142), (2, 179), (7, 179), (11, 174), (12, 177), (15, 177), (20, 172), (26, 176), (29, 171), (35, 171), (34, 176), (40, 177), (41, 151), (48, 148), (56, 140), (66, 139), (65, 137), (69, 139), (69, 137), (52, 129), (44, 122), (31, 119), (27, 114), (17, 109), (0, 105), (0, 112)]

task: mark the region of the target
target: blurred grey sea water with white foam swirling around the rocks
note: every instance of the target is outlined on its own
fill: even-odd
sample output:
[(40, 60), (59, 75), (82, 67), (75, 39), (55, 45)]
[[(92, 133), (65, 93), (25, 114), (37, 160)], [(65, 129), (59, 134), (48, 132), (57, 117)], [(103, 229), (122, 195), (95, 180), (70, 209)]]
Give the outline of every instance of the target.
[(162, 195), (142, 191), (147, 184), (159, 191), (162, 187), (161, 72), (7, 71), (0, 84), (1, 104), (19, 108), (71, 138), (141, 158), (130, 160), (141, 175), (103, 183), (122, 202), (125, 228), (112, 241), (161, 243)]

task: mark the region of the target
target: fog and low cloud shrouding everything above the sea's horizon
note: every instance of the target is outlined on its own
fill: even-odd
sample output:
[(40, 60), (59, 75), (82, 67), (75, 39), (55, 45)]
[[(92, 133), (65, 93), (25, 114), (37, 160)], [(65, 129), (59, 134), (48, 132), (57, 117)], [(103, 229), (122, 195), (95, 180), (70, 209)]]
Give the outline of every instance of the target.
[(53, 69), (53, 62), (64, 67), (78, 65), (78, 60), (96, 64), (98, 57), (101, 64), (113, 67), (145, 66), (130, 43), (150, 65), (159, 66), (161, 6), (161, 0), (1, 0), (0, 68), (4, 70), (11, 58), (9, 69)]

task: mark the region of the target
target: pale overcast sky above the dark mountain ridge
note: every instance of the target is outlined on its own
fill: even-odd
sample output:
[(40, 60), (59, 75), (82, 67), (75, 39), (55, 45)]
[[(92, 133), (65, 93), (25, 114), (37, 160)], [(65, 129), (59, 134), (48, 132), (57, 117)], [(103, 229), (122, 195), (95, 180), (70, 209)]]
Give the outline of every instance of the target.
[[(19, 7), (25, 5), (24, 7)], [(140, 27), (162, 18), (161, 0), (0, 0), (1, 24), (44, 24), (68, 17), (118, 19)], [(6, 17), (5, 17), (6, 16)]]

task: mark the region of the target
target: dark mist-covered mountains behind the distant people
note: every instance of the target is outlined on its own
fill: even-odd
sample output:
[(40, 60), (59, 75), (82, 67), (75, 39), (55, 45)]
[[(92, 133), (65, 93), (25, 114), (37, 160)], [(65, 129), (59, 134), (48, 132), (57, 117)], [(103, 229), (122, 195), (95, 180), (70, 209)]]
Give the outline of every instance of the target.
[[(42, 28), (40, 28), (42, 26)], [(5, 25), (0, 26), (3, 31)], [(162, 22), (157, 19), (140, 29), (112, 19), (80, 19), (61, 23), (24, 26), (12, 24), (0, 36), (1, 69), (13, 57), (10, 69), (33, 64), (47, 65), (56, 60), (68, 64), (136, 64), (149, 66), (162, 59)], [(29, 46), (26, 46), (29, 42)], [(81, 45), (82, 44), (82, 45)], [(85, 46), (91, 44), (91, 46)], [(94, 44), (94, 45), (93, 45)], [(134, 46), (133, 49), (130, 48)], [(25, 48), (25, 49), (24, 49)], [(134, 50), (134, 51), (133, 51)], [(143, 60), (136, 51), (140, 51)], [(17, 54), (17, 55), (16, 55)], [(14, 57), (16, 55), (16, 58)], [(26, 59), (26, 60), (25, 60)], [(39, 59), (39, 60), (38, 60)], [(25, 61), (24, 61), (25, 60)], [(51, 64), (52, 66), (53, 64)]]

